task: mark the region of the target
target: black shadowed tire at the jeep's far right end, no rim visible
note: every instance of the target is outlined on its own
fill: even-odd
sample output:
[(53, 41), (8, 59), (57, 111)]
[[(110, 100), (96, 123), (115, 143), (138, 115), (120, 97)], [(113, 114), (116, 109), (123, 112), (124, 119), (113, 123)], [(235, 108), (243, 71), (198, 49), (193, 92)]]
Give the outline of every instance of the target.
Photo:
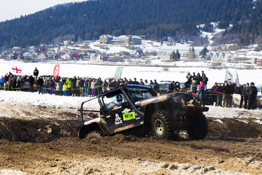
[(208, 121), (206, 116), (201, 112), (191, 118), (189, 128), (187, 129), (189, 138), (204, 139), (208, 134)]

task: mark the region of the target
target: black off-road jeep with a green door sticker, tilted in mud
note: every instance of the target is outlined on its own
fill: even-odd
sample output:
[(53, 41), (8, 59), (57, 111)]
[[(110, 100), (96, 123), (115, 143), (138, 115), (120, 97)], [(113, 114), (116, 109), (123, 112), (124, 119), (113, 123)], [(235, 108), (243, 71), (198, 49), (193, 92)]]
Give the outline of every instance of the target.
[[(100, 110), (83, 107), (97, 100)], [(178, 131), (187, 131), (192, 139), (203, 139), (208, 124), (203, 111), (209, 108), (190, 93), (174, 92), (157, 96), (150, 86), (126, 84), (81, 103), (81, 123), (76, 126), (80, 138), (100, 139), (118, 132), (151, 134), (156, 139), (174, 139)], [(84, 112), (100, 116), (84, 120)]]

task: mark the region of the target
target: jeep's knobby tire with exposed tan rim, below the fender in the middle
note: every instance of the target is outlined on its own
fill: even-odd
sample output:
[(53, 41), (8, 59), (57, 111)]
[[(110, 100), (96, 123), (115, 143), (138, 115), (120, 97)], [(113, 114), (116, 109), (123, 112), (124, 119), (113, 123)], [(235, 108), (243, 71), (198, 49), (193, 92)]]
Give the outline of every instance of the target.
[(151, 129), (156, 139), (169, 139), (172, 135), (171, 117), (168, 111), (158, 110), (152, 114)]

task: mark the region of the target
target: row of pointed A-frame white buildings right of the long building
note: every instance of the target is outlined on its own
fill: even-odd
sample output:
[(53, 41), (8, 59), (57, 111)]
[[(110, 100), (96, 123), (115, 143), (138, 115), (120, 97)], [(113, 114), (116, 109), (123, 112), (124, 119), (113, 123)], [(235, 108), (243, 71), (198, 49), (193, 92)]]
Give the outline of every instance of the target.
[(208, 59), (212, 61), (233, 61), (234, 56), (230, 52), (224, 51), (210, 51), (208, 53)]

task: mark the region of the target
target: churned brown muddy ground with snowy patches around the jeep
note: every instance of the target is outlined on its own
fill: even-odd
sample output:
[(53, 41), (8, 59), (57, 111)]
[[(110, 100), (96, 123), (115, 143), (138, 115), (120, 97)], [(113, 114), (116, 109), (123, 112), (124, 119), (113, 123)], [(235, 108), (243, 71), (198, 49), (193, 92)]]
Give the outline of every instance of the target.
[(0, 174), (262, 174), (262, 124), (253, 118), (208, 117), (204, 140), (117, 134), (95, 142), (75, 136), (76, 109), (1, 110)]

